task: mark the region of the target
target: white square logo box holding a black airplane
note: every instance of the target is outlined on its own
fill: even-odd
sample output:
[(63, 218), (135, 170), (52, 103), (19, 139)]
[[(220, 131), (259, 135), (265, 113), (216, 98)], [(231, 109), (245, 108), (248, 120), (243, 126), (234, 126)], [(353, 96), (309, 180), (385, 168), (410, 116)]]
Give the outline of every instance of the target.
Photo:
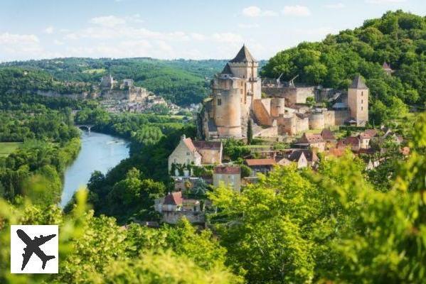
[[(58, 236), (58, 225), (11, 225), (11, 273), (58, 273)], [(21, 270), (23, 254), (31, 256)]]

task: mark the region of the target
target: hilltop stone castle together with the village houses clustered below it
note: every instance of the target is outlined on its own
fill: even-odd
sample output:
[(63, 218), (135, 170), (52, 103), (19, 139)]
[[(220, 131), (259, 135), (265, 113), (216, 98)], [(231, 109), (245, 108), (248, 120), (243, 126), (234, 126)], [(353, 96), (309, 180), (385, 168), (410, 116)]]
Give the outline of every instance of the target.
[[(208, 188), (223, 185), (240, 193), (276, 166), (316, 170), (320, 158), (351, 151), (372, 170), (385, 159), (384, 141), (392, 141), (403, 155), (410, 152), (392, 129), (368, 128), (369, 89), (362, 77), (354, 77), (343, 92), (262, 80), (257, 67), (243, 46), (213, 78), (211, 96), (197, 114), (198, 137), (182, 136), (169, 155), (174, 192), (154, 204), (162, 222), (176, 224), (186, 217), (206, 224), (206, 212), (215, 210), (206, 198)], [(383, 72), (392, 70), (384, 64)], [(228, 139), (262, 143), (247, 146), (250, 153), (243, 160), (232, 160), (223, 151)]]

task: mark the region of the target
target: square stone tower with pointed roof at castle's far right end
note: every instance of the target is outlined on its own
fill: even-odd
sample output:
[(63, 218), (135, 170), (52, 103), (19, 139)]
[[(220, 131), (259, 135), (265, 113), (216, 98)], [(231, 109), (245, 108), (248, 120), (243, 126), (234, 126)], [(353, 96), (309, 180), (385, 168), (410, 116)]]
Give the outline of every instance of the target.
[(348, 107), (356, 126), (366, 126), (368, 122), (368, 87), (360, 75), (357, 75), (348, 88)]

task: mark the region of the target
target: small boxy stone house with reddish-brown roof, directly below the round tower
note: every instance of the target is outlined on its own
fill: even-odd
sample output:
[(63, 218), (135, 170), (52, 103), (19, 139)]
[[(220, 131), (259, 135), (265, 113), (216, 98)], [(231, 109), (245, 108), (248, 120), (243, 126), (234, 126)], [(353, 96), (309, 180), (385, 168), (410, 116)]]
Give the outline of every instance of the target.
[(230, 165), (219, 165), (213, 169), (213, 186), (225, 185), (236, 192), (241, 190), (241, 168)]

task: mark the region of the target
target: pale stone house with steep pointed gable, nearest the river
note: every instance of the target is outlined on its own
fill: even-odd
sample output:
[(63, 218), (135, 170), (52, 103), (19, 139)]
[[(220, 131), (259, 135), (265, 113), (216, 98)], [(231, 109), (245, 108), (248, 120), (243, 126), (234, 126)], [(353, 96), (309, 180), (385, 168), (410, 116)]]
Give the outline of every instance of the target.
[[(169, 155), (169, 173), (172, 165), (201, 165), (201, 154), (198, 153), (196, 147), (193, 145), (191, 138), (186, 138), (185, 135), (181, 136), (178, 146)], [(171, 173), (176, 175), (176, 173)], [(179, 173), (178, 173), (179, 175)]]

